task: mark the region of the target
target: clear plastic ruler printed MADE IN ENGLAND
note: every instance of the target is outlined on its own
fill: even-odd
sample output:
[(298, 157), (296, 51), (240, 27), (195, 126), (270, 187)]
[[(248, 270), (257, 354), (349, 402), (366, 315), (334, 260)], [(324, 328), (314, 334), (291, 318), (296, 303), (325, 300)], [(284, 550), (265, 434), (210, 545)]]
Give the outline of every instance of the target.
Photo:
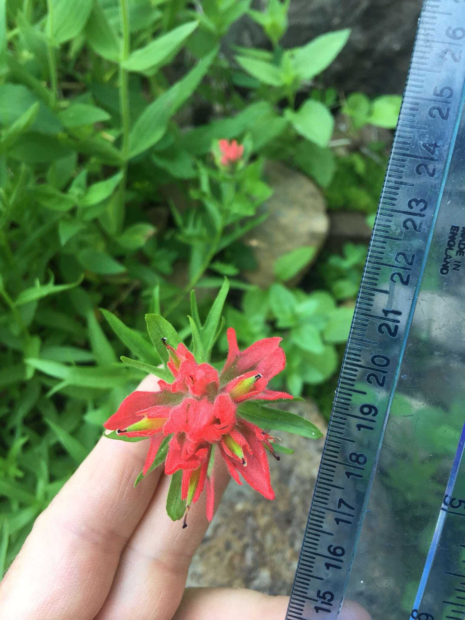
[(425, 0), (286, 620), (465, 618), (465, 0)]

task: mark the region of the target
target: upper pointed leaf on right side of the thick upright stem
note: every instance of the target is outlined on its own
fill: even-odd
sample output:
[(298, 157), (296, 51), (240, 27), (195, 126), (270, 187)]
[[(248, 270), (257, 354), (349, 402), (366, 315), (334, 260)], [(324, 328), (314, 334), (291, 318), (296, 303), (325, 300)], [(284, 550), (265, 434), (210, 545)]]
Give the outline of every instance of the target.
[(188, 22), (157, 37), (148, 45), (134, 51), (122, 66), (128, 71), (159, 69), (175, 54), (185, 39), (197, 28), (198, 22)]

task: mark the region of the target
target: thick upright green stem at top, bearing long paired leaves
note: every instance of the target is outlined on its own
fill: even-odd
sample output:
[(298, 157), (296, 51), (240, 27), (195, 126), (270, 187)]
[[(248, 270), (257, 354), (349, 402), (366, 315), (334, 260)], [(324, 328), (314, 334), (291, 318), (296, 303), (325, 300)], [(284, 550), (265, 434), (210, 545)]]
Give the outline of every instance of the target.
[(131, 117), (129, 108), (129, 75), (128, 71), (123, 68), (123, 63), (128, 60), (131, 51), (131, 30), (129, 24), (129, 5), (128, 0), (120, 0), (121, 24), (123, 33), (123, 48), (120, 60), (120, 112), (122, 118), (122, 157), (123, 157), (123, 180), (120, 185), (120, 218), (119, 226), (124, 221), (125, 197), (126, 197), (126, 180), (128, 176), (128, 159), (130, 154), (130, 130)]

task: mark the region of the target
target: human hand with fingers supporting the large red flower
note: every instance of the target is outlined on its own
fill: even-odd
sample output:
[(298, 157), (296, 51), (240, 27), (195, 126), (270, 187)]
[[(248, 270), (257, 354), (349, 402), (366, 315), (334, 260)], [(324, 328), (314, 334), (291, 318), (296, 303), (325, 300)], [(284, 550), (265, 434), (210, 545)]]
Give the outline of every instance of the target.
[[(156, 390), (148, 376), (139, 389)], [(169, 479), (156, 469), (135, 489), (146, 445), (102, 438), (40, 515), (0, 584), (2, 620), (283, 620), (286, 596), (187, 588), (205, 534), (205, 497), (188, 529), (166, 515)], [(215, 500), (229, 474), (215, 464)], [(204, 494), (205, 495), (205, 494)], [(212, 567), (212, 570), (215, 570)], [(340, 620), (370, 620), (347, 603)]]

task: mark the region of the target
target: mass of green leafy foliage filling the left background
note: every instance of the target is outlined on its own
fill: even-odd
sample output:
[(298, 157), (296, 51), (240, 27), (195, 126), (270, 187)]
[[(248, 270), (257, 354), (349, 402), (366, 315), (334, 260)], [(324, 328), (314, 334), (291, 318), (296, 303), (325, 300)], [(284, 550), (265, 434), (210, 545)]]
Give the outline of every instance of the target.
[[(350, 310), (282, 283), (312, 250), (278, 260), (268, 291), (241, 278), (254, 263), (242, 238), (272, 192), (265, 161), (324, 187), (339, 166), (340, 100), (318, 76), (349, 32), (284, 50), (288, 4), (270, 0), (262, 14), (248, 0), (201, 11), (185, 0), (0, 2), (1, 569), (101, 423), (159, 364), (146, 312), (189, 339), (191, 288), (206, 316), (228, 275), (228, 323), (244, 345), (285, 333), (290, 389), (334, 374)], [(219, 44), (247, 13), (273, 51), (230, 59)], [(219, 139), (239, 140), (238, 161), (221, 164)], [(352, 185), (343, 177), (339, 190)], [(128, 350), (135, 362), (120, 365)]]

